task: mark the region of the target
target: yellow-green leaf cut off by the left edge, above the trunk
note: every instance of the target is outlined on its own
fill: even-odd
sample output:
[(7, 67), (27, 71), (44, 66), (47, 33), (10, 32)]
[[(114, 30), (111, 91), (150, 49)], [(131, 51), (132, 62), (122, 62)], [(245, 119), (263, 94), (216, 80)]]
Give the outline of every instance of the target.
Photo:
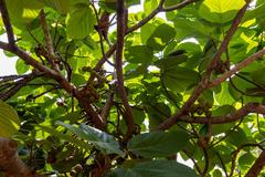
[(19, 131), (19, 127), (17, 111), (0, 100), (0, 137), (11, 137)]

